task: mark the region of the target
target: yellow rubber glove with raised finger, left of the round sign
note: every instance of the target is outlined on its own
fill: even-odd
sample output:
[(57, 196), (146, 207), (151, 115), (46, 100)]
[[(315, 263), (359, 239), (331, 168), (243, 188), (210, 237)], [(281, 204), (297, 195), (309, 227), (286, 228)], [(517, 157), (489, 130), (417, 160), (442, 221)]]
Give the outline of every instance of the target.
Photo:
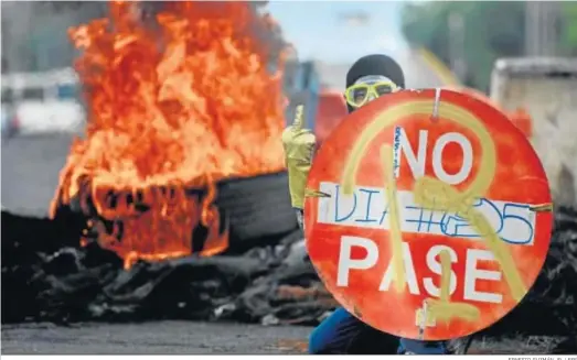
[(295, 122), (282, 132), (282, 145), (289, 176), (289, 190), (292, 207), (304, 206), (304, 187), (312, 164), (312, 153), (317, 138), (309, 129), (302, 129), (303, 106), (296, 109)]

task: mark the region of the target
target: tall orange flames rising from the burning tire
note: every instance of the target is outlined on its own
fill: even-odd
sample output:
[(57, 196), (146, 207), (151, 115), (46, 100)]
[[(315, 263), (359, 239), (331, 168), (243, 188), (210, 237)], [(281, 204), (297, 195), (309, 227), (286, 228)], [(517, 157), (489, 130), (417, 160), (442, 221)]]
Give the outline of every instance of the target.
[[(72, 145), (51, 214), (78, 199), (101, 247), (130, 268), (227, 248), (215, 182), (284, 168), (282, 62), (254, 34), (270, 18), (245, 2), (170, 2), (154, 25), (135, 2), (70, 30), (83, 55), (86, 138)], [(205, 196), (186, 189), (204, 189)]]

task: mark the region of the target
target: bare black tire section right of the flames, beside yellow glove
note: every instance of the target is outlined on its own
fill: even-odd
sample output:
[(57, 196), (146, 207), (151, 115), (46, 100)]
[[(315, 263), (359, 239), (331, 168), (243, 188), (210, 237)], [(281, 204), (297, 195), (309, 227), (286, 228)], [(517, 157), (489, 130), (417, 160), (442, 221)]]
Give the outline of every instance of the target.
[(216, 205), (228, 220), (233, 247), (298, 229), (286, 172), (224, 181)]

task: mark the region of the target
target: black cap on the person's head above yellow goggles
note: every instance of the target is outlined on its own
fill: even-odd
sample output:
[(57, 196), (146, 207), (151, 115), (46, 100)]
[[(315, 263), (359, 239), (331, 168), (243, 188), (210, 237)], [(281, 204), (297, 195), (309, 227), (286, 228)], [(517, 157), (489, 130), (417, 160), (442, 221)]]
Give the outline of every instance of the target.
[[(367, 55), (357, 59), (346, 73), (346, 88), (363, 83), (371, 84), (381, 78), (394, 83), (397, 87), (405, 87), (405, 76), (400, 66), (391, 57), (381, 54)], [(367, 103), (366, 101), (365, 103)], [(364, 105), (364, 103), (363, 103)], [(349, 112), (356, 108), (346, 103)]]

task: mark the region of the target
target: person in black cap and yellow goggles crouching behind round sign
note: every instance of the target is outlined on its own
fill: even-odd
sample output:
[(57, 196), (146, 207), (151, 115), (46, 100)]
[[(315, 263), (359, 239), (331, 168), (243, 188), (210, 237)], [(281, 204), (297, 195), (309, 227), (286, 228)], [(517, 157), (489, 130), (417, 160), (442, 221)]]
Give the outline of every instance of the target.
[[(349, 112), (404, 87), (403, 69), (393, 58), (380, 54), (361, 57), (346, 74), (344, 98)], [(303, 227), (304, 185), (312, 163), (316, 139), (311, 130), (292, 124), (285, 130), (282, 142), (292, 207), (297, 211), (299, 225)], [(364, 324), (340, 307), (312, 331), (309, 352), (377, 354), (392, 353), (392, 349), (396, 349), (402, 354), (445, 354), (458, 352), (463, 342), (398, 339)]]

